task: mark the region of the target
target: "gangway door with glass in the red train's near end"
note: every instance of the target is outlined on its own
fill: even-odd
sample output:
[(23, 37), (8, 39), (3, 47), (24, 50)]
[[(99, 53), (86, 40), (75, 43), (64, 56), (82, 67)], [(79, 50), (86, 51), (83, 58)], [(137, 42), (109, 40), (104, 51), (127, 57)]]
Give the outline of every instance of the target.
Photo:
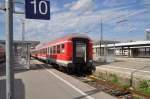
[(73, 62), (77, 64), (87, 63), (88, 61), (88, 49), (87, 40), (75, 39), (73, 44)]

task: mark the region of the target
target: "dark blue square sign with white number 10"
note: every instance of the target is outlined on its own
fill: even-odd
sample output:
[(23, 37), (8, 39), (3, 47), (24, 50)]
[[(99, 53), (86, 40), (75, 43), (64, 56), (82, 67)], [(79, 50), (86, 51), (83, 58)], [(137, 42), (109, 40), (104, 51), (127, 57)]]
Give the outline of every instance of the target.
[(27, 19), (50, 20), (50, 1), (25, 0), (25, 16)]

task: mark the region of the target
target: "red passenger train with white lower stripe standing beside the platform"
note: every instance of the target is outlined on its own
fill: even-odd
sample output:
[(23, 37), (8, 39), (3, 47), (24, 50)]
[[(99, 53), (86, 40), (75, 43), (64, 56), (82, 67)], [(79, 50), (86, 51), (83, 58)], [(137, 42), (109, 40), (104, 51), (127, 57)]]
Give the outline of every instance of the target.
[(31, 51), (31, 56), (65, 67), (67, 72), (92, 73), (92, 41), (86, 36), (71, 36), (49, 42)]

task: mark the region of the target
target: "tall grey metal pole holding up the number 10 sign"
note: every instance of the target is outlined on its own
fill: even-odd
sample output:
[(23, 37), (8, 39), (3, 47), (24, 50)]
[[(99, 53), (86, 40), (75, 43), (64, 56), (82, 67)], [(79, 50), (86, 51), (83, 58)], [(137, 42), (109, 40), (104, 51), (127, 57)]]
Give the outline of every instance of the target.
[(13, 59), (13, 0), (5, 0), (6, 7), (6, 99), (14, 99)]

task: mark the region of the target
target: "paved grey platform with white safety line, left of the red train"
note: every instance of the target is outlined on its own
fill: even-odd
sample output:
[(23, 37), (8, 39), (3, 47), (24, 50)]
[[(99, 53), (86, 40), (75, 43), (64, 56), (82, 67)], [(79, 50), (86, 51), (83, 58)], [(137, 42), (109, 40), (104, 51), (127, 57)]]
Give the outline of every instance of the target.
[[(0, 76), (0, 99), (5, 99), (5, 75)], [(15, 99), (115, 99), (52, 66), (31, 60), (30, 70), (15, 71)]]

